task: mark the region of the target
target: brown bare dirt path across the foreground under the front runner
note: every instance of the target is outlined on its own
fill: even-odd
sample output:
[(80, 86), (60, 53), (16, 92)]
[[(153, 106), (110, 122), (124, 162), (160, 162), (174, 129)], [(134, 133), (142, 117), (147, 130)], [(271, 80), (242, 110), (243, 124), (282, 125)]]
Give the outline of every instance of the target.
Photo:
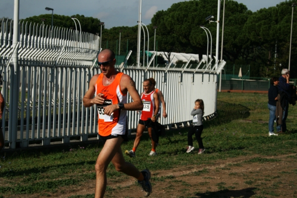
[[(247, 162), (250, 161), (250, 162)], [(241, 156), (217, 160), (211, 165), (182, 166), (170, 170), (152, 171), (151, 198), (294, 198), (297, 197), (297, 155), (270, 157)], [(105, 197), (143, 197), (136, 180), (120, 183), (108, 181)], [(94, 194), (95, 181), (82, 186), (60, 189), (50, 195), (68, 198)], [(49, 194), (25, 195), (23, 198), (43, 198)]]

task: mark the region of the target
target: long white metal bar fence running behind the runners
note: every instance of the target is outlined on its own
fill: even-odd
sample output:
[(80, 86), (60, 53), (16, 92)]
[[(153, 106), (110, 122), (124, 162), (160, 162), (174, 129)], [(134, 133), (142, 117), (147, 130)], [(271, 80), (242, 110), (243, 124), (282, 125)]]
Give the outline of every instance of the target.
[[(11, 57), (16, 49), (12, 48), (11, 27), (2, 21), (0, 30), (1, 93), (6, 101), (1, 126), (5, 143), (16, 148), (36, 141), (49, 145), (57, 140), (68, 143), (71, 138), (87, 141), (96, 136), (96, 106), (85, 108), (82, 98), (91, 77), (100, 73), (95, 63), (99, 37), (57, 27), (50, 31), (38, 24), (19, 24), (18, 80), (17, 89), (13, 90), (15, 65)], [(192, 120), (190, 111), (198, 98), (204, 100), (205, 117), (213, 116), (217, 74), (225, 64), (205, 65), (201, 61), (201, 67), (195, 69), (116, 67), (135, 80), (139, 92), (145, 79), (155, 78), (168, 113), (161, 123), (171, 127)], [(17, 100), (15, 110), (13, 99)], [(129, 130), (137, 128), (138, 119), (137, 112), (128, 111)]]

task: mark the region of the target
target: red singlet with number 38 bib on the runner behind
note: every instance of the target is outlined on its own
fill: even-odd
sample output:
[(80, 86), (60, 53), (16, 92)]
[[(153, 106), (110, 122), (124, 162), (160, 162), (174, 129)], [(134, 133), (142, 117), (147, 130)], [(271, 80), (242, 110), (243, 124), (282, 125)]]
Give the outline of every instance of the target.
[(153, 98), (154, 91), (150, 92), (149, 94), (146, 94), (145, 92), (141, 95), (141, 100), (144, 104), (144, 108), (141, 111), (140, 119), (141, 120), (148, 120), (153, 116), (155, 108), (155, 102)]

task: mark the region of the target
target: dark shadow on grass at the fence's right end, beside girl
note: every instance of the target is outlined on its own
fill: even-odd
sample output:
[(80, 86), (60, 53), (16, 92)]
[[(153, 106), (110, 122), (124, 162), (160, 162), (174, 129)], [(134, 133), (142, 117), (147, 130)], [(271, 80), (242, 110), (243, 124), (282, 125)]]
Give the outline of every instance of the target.
[(217, 101), (217, 116), (203, 123), (204, 127), (218, 126), (220, 124), (229, 123), (233, 120), (246, 119), (249, 117), (249, 108), (241, 105), (224, 101)]

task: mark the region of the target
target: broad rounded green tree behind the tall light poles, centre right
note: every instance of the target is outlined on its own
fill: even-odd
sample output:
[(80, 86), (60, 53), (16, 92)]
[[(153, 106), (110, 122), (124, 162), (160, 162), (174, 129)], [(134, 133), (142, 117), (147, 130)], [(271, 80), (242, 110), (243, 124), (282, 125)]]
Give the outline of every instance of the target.
[[(223, 7), (223, 6), (221, 6)], [(252, 14), (247, 6), (236, 1), (226, 1), (225, 23), (227, 34), (227, 59), (237, 59), (244, 54), (244, 32), (242, 31), (247, 18)], [(207, 38), (200, 25), (205, 25), (213, 38), (213, 53), (215, 51), (216, 25), (207, 24), (205, 17), (217, 13), (217, 0), (191, 0), (174, 3), (166, 11), (158, 11), (151, 22), (158, 26), (158, 43), (160, 49), (169, 52), (198, 53), (200, 57), (206, 54)], [(221, 13), (223, 13), (221, 11)], [(221, 14), (222, 15), (222, 14)], [(222, 16), (221, 16), (222, 17)], [(226, 17), (226, 18), (227, 18)], [(226, 34), (225, 34), (226, 35)], [(226, 37), (226, 36), (225, 36)], [(168, 57), (167, 57), (168, 58)], [(168, 58), (170, 59), (170, 58)]]

